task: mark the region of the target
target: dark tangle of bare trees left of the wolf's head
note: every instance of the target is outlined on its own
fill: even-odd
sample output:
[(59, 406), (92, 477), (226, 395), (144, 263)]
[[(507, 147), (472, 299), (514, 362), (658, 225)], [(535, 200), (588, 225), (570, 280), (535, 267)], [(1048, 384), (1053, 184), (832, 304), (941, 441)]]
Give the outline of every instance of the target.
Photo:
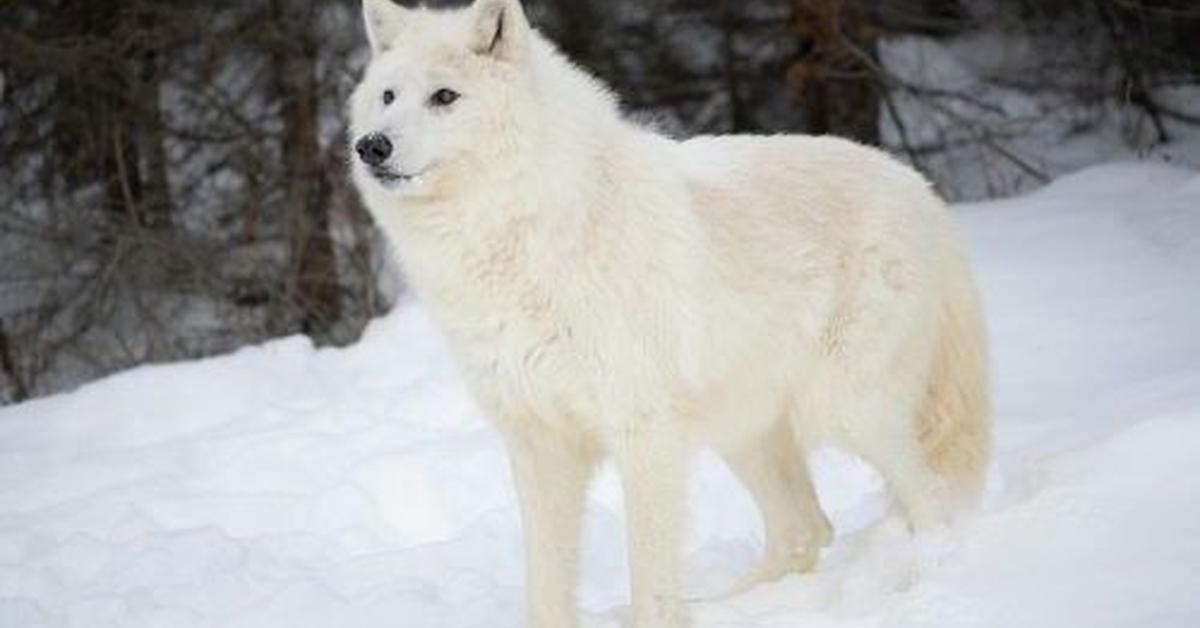
[(344, 166), (356, 1), (0, 5), (0, 399), (390, 304)]

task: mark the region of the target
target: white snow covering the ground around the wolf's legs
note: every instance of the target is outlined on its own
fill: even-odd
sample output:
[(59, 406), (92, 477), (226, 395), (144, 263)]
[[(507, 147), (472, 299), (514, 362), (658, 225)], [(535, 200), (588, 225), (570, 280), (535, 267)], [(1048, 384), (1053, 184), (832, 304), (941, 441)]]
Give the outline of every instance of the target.
[[(1114, 165), (956, 208), (994, 343), (984, 503), (911, 538), (877, 478), (815, 459), (816, 573), (720, 597), (760, 525), (696, 462), (700, 627), (1200, 626), (1200, 174)], [(628, 616), (620, 491), (581, 602)], [(0, 411), (0, 627), (515, 627), (503, 448), (422, 310), (348, 349), (289, 339)]]

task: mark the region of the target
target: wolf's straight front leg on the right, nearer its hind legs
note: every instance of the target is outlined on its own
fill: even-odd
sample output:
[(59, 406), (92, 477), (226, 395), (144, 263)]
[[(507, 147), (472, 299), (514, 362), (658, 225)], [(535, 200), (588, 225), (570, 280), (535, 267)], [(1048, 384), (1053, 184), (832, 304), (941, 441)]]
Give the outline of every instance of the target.
[(640, 426), (624, 435), (614, 455), (625, 490), (629, 567), (635, 628), (679, 628), (688, 445), (679, 430)]

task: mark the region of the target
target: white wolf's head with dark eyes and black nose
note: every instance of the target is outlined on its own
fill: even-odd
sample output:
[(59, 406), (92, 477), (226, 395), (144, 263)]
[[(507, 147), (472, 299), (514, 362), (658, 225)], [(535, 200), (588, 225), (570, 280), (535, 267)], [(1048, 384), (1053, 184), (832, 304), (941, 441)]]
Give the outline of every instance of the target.
[(372, 199), (445, 198), (517, 157), (534, 38), (518, 0), (458, 11), (364, 0), (372, 59), (350, 98), (354, 178)]

